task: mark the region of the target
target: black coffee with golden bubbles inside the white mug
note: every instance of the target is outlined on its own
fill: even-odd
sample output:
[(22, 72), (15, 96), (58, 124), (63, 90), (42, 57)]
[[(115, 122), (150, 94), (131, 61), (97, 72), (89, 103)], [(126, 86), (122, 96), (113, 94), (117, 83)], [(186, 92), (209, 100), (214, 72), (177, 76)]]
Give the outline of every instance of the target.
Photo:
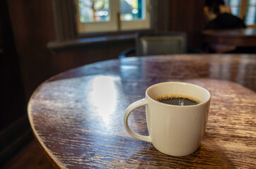
[(171, 104), (176, 106), (191, 106), (200, 104), (202, 102), (197, 98), (185, 96), (184, 94), (162, 94), (161, 96), (157, 96), (155, 100), (163, 104)]

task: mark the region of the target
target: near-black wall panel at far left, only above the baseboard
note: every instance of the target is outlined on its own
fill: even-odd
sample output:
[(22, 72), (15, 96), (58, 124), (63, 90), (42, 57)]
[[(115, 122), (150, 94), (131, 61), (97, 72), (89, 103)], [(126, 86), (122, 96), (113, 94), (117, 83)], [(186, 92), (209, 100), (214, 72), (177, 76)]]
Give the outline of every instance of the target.
[(6, 1), (0, 2), (0, 131), (26, 113), (19, 58)]

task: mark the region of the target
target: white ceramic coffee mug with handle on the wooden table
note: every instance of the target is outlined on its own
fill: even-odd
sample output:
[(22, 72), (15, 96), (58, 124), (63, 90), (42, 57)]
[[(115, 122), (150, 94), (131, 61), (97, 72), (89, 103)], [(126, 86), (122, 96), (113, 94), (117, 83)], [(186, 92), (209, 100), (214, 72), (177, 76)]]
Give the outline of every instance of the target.
[[(197, 98), (201, 103), (177, 106), (156, 101), (163, 94), (180, 94)], [(202, 141), (208, 120), (211, 94), (195, 84), (163, 82), (146, 89), (146, 97), (129, 105), (124, 113), (124, 127), (132, 137), (152, 142), (158, 151), (170, 156), (187, 156), (196, 151)], [(146, 106), (149, 136), (133, 132), (128, 123), (135, 108)]]

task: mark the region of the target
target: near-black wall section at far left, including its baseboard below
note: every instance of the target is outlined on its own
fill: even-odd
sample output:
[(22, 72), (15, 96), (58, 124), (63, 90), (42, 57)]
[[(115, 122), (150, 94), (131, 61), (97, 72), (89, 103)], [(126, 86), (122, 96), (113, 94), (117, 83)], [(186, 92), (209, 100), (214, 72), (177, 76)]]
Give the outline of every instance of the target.
[(0, 1), (0, 168), (32, 138), (6, 1)]

